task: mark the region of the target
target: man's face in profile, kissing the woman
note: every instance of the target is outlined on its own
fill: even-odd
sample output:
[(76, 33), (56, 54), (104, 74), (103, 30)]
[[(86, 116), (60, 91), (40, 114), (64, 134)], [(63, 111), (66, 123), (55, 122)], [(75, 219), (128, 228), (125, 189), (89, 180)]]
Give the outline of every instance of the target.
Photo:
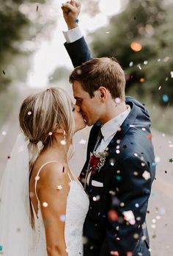
[(85, 91), (81, 82), (73, 82), (73, 95), (76, 99), (76, 105), (81, 107), (81, 114), (88, 126), (92, 126), (100, 119), (100, 99), (95, 94), (93, 98)]

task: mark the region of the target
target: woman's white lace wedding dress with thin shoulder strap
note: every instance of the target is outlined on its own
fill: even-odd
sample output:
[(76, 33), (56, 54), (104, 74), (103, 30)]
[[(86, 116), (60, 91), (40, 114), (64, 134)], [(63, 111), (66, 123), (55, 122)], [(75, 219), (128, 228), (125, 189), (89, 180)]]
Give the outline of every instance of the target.
[[(51, 161), (48, 163), (53, 163)], [(42, 168), (48, 164), (45, 163), (37, 173), (39, 177)], [(70, 175), (69, 175), (70, 178)], [(37, 188), (37, 179), (35, 182), (35, 195)], [(38, 197), (37, 197), (38, 199)], [(34, 208), (34, 207), (33, 207)], [(67, 208), (65, 216), (65, 242), (68, 250), (68, 256), (82, 256), (83, 255), (83, 225), (84, 220), (89, 209), (89, 199), (85, 193), (81, 182), (78, 179), (70, 178), (70, 190), (67, 196)], [(34, 209), (33, 209), (34, 211)], [(31, 256), (47, 256), (46, 241), (45, 241), (45, 228), (38, 199), (38, 212), (37, 216), (34, 212), (35, 221), (35, 234), (34, 234), (34, 249), (32, 249)], [(58, 230), (57, 230), (58, 232)]]

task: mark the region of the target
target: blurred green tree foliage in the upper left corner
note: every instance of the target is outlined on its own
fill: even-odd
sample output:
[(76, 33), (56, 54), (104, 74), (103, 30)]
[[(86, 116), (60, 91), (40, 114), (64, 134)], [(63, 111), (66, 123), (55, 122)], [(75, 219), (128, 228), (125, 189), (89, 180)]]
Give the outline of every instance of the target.
[[(35, 50), (34, 39), (53, 24), (46, 17), (45, 0), (5, 0), (0, 3), (0, 91), (11, 80), (26, 79), (29, 54)], [(20, 64), (21, 63), (21, 64)]]

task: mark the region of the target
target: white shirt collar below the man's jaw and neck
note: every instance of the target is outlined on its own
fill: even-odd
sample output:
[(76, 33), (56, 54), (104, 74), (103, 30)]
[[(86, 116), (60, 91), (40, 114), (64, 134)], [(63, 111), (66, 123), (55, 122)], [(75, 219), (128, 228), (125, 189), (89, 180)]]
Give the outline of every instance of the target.
[(115, 118), (112, 118), (106, 124), (103, 124), (103, 127), (101, 127), (101, 133), (104, 141), (107, 141), (109, 137), (114, 135), (118, 128), (122, 125), (123, 121), (125, 121), (125, 118), (128, 117), (128, 114), (130, 113), (130, 106), (126, 105), (126, 107), (127, 110), (117, 115)]

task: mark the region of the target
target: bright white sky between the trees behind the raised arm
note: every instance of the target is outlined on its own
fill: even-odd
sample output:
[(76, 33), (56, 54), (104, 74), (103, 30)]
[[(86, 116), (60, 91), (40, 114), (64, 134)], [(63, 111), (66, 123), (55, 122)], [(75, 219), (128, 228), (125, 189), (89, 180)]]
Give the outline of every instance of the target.
[[(73, 68), (70, 57), (65, 50), (65, 38), (62, 33), (62, 31), (67, 31), (61, 10), (61, 5), (64, 2), (63, 0), (52, 1), (58, 19), (51, 38), (44, 39), (32, 57), (32, 69), (28, 72), (26, 81), (31, 88), (48, 86), (48, 77), (58, 66), (65, 65), (67, 68)], [(108, 23), (108, 18), (121, 10), (121, 0), (100, 0), (99, 7), (100, 13), (94, 18), (85, 13), (79, 15), (79, 26), (83, 35), (105, 26)]]

